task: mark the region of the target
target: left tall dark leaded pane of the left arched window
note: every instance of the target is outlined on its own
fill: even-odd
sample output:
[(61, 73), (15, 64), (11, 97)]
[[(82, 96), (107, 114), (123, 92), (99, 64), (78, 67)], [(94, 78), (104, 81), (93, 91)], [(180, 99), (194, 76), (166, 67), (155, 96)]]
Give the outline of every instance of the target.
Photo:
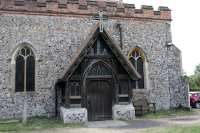
[(15, 91), (24, 91), (24, 58), (22, 56), (16, 59)]

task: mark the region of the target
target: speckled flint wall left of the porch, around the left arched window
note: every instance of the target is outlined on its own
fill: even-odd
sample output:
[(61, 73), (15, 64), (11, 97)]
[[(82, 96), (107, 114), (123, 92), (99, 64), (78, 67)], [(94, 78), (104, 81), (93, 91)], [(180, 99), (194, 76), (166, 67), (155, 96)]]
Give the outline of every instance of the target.
[(0, 119), (20, 118), (22, 112), (23, 94), (11, 87), (13, 50), (28, 43), (40, 57), (38, 91), (28, 96), (28, 116), (53, 116), (57, 77), (96, 23), (88, 18), (0, 15)]

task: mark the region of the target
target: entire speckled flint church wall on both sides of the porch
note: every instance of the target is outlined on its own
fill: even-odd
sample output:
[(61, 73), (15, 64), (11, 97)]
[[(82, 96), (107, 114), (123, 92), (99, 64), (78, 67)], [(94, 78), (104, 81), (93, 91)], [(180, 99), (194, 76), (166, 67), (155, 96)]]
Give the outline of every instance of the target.
[[(117, 21), (115, 19), (105, 20), (104, 26), (119, 44), (120, 33), (116, 25)], [(128, 55), (128, 52), (137, 46), (144, 51), (147, 57), (145, 88), (133, 90), (135, 96), (133, 98), (147, 98), (148, 102), (156, 103), (157, 110), (169, 109), (170, 100), (183, 97), (188, 92), (183, 91), (179, 95), (171, 95), (170, 98), (170, 93), (172, 94), (173, 91), (169, 91), (166, 32), (168, 39), (171, 39), (171, 34), (166, 29), (166, 23), (159, 20), (155, 22), (121, 21), (124, 54)], [(20, 118), (22, 112), (23, 94), (13, 93), (11, 87), (10, 58), (13, 50), (21, 43), (28, 43), (37, 50), (40, 58), (38, 77), (36, 77), (38, 90), (34, 94), (28, 95), (28, 116), (53, 116), (55, 115), (54, 84), (57, 77), (97, 22), (92, 17), (0, 15), (0, 119)], [(179, 54), (180, 51), (176, 52)], [(180, 69), (181, 58), (175, 58), (175, 60), (177, 62), (174, 63), (178, 66), (175, 69)], [(172, 74), (175, 69), (171, 69)], [(179, 80), (180, 75), (173, 76), (175, 76), (173, 78), (175, 82)], [(180, 84), (183, 84), (184, 90), (187, 90), (182, 81)], [(176, 86), (177, 84), (173, 83), (172, 85)], [(180, 86), (177, 86), (176, 89), (181, 90)], [(60, 92), (58, 95), (60, 97)], [(58, 99), (58, 103), (59, 108), (60, 99)], [(178, 101), (173, 100), (173, 104), (178, 104)]]

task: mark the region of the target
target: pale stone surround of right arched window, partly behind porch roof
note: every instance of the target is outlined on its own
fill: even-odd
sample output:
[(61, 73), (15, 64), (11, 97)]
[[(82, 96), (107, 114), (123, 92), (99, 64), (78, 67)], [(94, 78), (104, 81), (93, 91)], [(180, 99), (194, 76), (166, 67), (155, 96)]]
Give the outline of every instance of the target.
[(128, 59), (129, 59), (129, 57), (131, 56), (131, 54), (132, 54), (132, 52), (133, 52), (134, 50), (140, 52), (140, 56), (141, 56), (142, 59), (143, 59), (144, 88), (143, 88), (143, 89), (138, 89), (138, 88), (132, 89), (132, 92), (146, 92), (146, 91), (147, 91), (147, 88), (148, 88), (148, 71), (147, 71), (148, 62), (147, 62), (147, 58), (146, 58), (146, 55), (145, 55), (144, 51), (143, 51), (141, 48), (135, 46), (135, 47), (132, 48), (132, 49), (130, 50), (130, 52), (128, 53), (128, 55), (127, 55), (127, 58), (128, 58)]

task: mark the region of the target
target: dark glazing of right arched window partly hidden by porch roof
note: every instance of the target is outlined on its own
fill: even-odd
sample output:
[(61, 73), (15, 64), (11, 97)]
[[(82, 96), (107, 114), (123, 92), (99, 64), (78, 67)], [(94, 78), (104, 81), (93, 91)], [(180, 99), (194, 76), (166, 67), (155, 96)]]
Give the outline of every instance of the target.
[(129, 53), (129, 60), (138, 73), (142, 76), (142, 79), (139, 81), (132, 82), (132, 88), (144, 89), (144, 57), (142, 56), (142, 53), (138, 49), (133, 50), (131, 53)]

